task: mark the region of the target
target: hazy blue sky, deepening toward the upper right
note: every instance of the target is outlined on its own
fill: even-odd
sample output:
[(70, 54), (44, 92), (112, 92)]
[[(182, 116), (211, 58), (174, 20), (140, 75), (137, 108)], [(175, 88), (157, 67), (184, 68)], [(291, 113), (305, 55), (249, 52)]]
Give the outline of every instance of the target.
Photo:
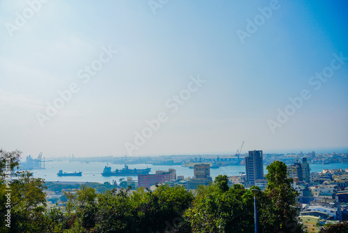
[(0, 148), (347, 152), (347, 1), (0, 1)]

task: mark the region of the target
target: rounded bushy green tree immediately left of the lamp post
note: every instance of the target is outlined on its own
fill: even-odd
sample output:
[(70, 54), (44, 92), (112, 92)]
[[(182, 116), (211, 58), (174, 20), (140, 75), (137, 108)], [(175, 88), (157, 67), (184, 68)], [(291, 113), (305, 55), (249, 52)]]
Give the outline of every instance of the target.
[(226, 177), (218, 177), (200, 186), (184, 213), (192, 232), (253, 232), (253, 193), (238, 184), (226, 190)]

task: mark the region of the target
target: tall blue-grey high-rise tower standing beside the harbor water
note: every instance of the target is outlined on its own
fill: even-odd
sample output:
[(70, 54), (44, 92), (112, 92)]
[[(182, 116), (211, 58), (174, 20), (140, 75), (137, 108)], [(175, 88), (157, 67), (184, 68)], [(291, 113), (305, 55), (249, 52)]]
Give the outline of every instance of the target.
[(256, 180), (264, 179), (262, 151), (249, 151), (245, 157), (246, 181), (255, 185)]

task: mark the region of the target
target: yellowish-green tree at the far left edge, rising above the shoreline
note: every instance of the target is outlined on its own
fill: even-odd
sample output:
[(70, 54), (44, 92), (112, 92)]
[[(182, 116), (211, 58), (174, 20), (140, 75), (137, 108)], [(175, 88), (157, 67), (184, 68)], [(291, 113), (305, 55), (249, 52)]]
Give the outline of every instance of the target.
[[(30, 172), (13, 171), (19, 167), (20, 151), (1, 149), (0, 154), (0, 214), (10, 214), (10, 228), (1, 221), (0, 232), (40, 232), (46, 207), (43, 179), (33, 178)], [(12, 180), (13, 174), (17, 179)], [(6, 175), (11, 176), (10, 181)]]

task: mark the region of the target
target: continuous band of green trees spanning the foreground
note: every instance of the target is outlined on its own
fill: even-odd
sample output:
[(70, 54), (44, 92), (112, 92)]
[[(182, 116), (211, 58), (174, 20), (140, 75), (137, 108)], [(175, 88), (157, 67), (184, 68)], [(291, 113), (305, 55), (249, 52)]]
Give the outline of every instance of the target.
[[(6, 171), (3, 158), (10, 156), (13, 169), (19, 151), (1, 152), (0, 212), (6, 213)], [(7, 157), (6, 157), (7, 158)], [(259, 232), (303, 232), (296, 219), (297, 193), (287, 178), (284, 163), (267, 167), (269, 181), (258, 200)], [(61, 188), (47, 183), (51, 188)], [(210, 186), (190, 191), (182, 186), (111, 189), (90, 183), (65, 193), (63, 206), (48, 208), (45, 183), (23, 172), (10, 184), (11, 228), (1, 221), (0, 232), (253, 232), (254, 195), (241, 185), (228, 187), (227, 176), (217, 176)], [(95, 188), (102, 188), (99, 193)], [(74, 187), (75, 188), (75, 187)], [(260, 190), (258, 187), (253, 187)], [(63, 199), (61, 199), (63, 200)]]

